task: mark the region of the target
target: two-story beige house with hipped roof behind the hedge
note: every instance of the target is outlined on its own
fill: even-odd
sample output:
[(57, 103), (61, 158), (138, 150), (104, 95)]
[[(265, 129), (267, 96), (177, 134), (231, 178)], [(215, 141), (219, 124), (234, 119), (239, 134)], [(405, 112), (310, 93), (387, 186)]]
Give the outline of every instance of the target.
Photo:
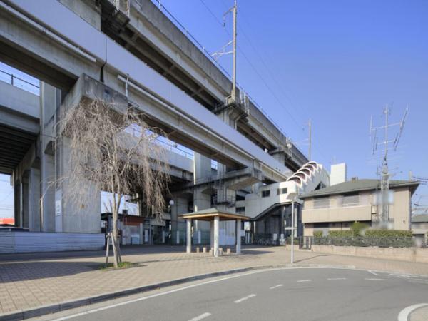
[[(409, 230), (411, 199), (419, 182), (391, 180), (389, 183), (389, 223), (394, 230)], [(304, 235), (315, 231), (347, 230), (357, 221), (372, 223), (379, 219), (380, 183), (374, 179), (353, 178), (311, 193), (300, 195)]]

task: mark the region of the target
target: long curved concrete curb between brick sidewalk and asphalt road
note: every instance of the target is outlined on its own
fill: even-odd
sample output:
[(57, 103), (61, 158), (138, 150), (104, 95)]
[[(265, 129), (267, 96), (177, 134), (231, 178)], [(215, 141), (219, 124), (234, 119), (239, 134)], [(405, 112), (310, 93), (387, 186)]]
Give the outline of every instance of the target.
[(243, 267), (235, 270), (226, 270), (221, 272), (206, 273), (201, 275), (193, 275), (190, 277), (183, 277), (180, 279), (160, 282), (152, 285), (143, 285), (141, 287), (131, 287), (126, 290), (119, 290), (116, 292), (108, 292), (102, 295), (95, 295), (93, 297), (83, 297), (77, 300), (70, 300), (59, 302), (54, 305), (42, 305), (40, 307), (34, 307), (28, 310), (20, 310), (11, 313), (2, 313), (0, 314), (0, 321), (15, 321), (15, 320), (24, 320), (29, 319), (30, 317), (40, 317), (42, 315), (49, 315), (51, 313), (56, 313), (68, 309), (73, 309), (76, 307), (83, 307), (84, 305), (91, 305), (93, 303), (103, 302), (106, 300), (117, 299), (118, 297), (125, 297), (127, 295), (134, 295), (138, 293), (148, 292), (151, 290), (161, 289), (163, 287), (170, 287), (173, 285), (180, 285), (186, 282), (192, 282), (197, 280), (207, 279), (209, 277), (218, 277), (222, 275), (229, 275), (235, 273), (249, 272), (253, 270), (267, 270), (283, 267), (295, 267), (295, 268), (336, 268), (336, 269), (355, 269), (355, 266), (348, 265), (317, 265), (317, 264), (302, 264), (302, 265), (293, 265), (293, 264), (284, 264), (284, 265), (262, 265), (257, 267)]

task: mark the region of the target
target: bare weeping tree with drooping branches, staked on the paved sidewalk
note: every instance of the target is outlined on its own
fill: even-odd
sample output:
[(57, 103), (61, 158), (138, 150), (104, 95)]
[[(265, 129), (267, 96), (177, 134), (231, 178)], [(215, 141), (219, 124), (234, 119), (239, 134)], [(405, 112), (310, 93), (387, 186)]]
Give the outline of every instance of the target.
[[(113, 106), (100, 100), (63, 111), (58, 123), (62, 143), (69, 148), (66, 175), (69, 201), (88, 201), (88, 195), (111, 192), (113, 264), (118, 267), (118, 212), (123, 195), (143, 191), (143, 202), (163, 212), (169, 168), (165, 149), (156, 141), (159, 128), (151, 128), (135, 108)], [(90, 196), (89, 196), (90, 197)]]

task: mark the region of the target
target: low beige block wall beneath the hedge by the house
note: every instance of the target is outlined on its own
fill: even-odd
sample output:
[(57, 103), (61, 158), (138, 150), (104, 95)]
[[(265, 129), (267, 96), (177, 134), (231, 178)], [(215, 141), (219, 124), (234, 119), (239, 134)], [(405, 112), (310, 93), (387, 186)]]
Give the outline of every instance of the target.
[(428, 248), (378, 248), (375, 246), (312, 245), (311, 251), (317, 253), (428, 263)]

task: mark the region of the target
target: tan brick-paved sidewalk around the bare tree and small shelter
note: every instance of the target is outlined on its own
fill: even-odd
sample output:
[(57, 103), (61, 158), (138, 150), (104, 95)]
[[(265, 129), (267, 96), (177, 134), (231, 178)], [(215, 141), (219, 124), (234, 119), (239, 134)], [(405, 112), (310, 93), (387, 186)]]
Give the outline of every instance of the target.
[[(123, 261), (138, 266), (99, 270), (105, 260), (103, 251), (0, 255), (0, 314), (193, 275), (290, 263), (290, 252), (283, 247), (244, 247), (243, 255), (220, 258), (186, 254), (185, 248), (171, 246), (123, 248), (122, 253)], [(426, 263), (307, 251), (296, 251), (295, 263), (428, 275)]]

